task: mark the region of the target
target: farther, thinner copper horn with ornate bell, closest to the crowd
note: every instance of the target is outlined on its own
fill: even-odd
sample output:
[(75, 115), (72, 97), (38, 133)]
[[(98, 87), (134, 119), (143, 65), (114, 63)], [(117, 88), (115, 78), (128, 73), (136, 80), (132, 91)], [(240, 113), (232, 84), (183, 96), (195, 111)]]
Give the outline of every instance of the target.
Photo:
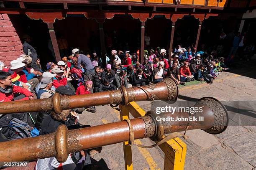
[(176, 101), (178, 86), (171, 77), (165, 78), (158, 84), (119, 90), (104, 91), (77, 96), (60, 96), (54, 94), (52, 98), (29, 101), (12, 101), (0, 103), (0, 114), (51, 111), (60, 114), (61, 110), (98, 106), (104, 104), (128, 104), (130, 101), (169, 100)]

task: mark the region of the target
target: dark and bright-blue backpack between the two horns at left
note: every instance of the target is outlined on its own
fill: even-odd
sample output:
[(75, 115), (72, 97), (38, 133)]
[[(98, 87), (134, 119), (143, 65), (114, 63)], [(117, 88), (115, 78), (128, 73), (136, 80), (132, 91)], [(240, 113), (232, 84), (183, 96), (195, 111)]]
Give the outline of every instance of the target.
[(39, 131), (35, 127), (30, 127), (25, 122), (16, 118), (9, 122), (8, 127), (18, 134), (17, 138), (36, 137), (39, 135)]

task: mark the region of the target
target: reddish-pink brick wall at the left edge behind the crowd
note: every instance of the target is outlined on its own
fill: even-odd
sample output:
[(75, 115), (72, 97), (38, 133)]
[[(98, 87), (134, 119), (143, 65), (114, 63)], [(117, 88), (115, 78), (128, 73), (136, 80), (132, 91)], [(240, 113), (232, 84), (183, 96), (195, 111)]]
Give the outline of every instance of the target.
[(23, 54), (22, 43), (7, 14), (0, 14), (0, 61), (10, 66), (10, 61)]

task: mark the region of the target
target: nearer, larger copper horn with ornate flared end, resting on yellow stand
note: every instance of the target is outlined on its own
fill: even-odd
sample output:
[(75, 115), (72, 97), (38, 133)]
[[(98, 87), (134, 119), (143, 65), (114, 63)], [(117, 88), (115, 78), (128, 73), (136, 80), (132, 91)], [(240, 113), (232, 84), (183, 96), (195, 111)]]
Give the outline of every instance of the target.
[[(202, 107), (203, 106), (203, 107)], [(146, 116), (128, 121), (102, 124), (94, 127), (68, 130), (65, 125), (58, 127), (55, 133), (20, 140), (1, 142), (0, 162), (28, 161), (46, 157), (56, 157), (59, 162), (67, 160), (68, 153), (90, 148), (111, 145), (131, 140), (129, 133), (133, 129), (134, 139), (150, 137), (160, 139), (163, 134), (202, 129), (210, 134), (223, 132), (228, 125), (225, 107), (214, 98), (202, 98), (194, 107), (202, 107), (202, 112), (193, 116), (204, 117), (204, 121), (157, 121), (156, 117), (189, 117), (189, 112), (167, 112), (155, 114), (147, 112)]]

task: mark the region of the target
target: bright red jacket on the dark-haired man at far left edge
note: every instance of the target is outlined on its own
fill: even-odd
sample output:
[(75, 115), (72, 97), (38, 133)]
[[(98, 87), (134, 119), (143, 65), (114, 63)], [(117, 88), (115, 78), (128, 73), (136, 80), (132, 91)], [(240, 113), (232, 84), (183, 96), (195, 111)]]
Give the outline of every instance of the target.
[(17, 93), (24, 94), (26, 96), (25, 98), (20, 99), (18, 101), (29, 100), (29, 97), (33, 96), (33, 94), (30, 91), (28, 91), (27, 89), (24, 89), (20, 86), (13, 85), (12, 88), (13, 88), (13, 90), (10, 93), (3, 93), (0, 90), (0, 102), (13, 101), (13, 94), (17, 94)]

